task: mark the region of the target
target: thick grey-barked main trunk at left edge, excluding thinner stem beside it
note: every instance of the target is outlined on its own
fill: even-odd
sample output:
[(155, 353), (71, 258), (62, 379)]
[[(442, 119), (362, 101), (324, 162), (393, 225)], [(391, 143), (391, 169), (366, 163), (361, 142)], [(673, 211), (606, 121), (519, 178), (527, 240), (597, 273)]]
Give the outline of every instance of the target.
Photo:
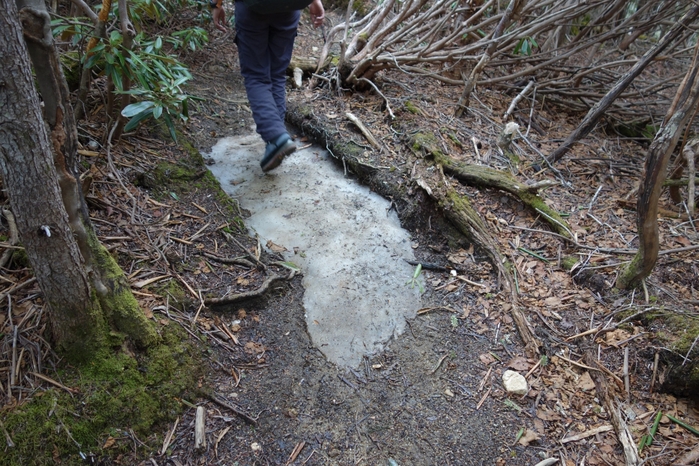
[(0, 0), (0, 170), (27, 256), (51, 309), (60, 349), (99, 349), (105, 321), (63, 206), (14, 0)]

